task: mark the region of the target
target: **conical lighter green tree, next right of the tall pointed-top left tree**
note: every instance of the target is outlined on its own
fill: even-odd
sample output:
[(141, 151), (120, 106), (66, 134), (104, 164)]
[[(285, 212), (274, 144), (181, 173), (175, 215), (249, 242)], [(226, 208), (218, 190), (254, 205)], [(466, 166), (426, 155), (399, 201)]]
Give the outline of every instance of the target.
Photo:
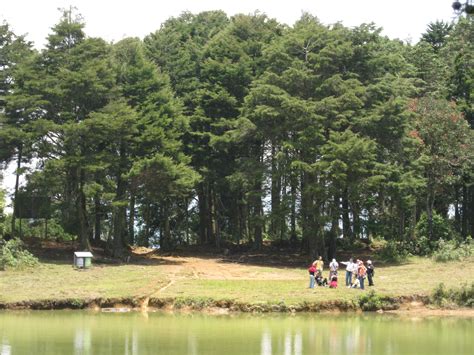
[[(158, 207), (160, 246), (170, 249), (174, 244), (170, 219), (181, 208), (176, 201), (187, 199), (199, 179), (189, 168), (190, 161), (181, 143), (189, 129), (188, 119), (182, 114), (182, 104), (175, 98), (168, 76), (145, 56), (139, 40), (126, 39), (117, 43), (114, 46), (114, 61), (122, 94), (138, 113), (138, 134), (133, 145), (124, 142), (119, 150), (122, 155), (126, 153), (128, 156), (123, 157), (123, 168), (128, 175), (123, 175), (123, 168), (117, 175), (126, 179), (121, 199), (124, 199), (127, 189), (131, 216), (135, 202), (142, 207)], [(187, 210), (188, 206), (184, 208)], [(121, 215), (124, 220), (125, 214)], [(145, 229), (149, 231), (145, 236), (148, 239), (154, 229), (152, 218), (149, 213), (141, 217)]]

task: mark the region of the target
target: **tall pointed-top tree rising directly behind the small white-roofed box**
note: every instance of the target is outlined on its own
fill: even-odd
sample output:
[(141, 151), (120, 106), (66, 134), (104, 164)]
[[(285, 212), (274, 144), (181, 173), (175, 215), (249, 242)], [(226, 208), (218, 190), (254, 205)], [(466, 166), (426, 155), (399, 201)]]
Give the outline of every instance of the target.
[[(90, 248), (92, 229), (85, 187), (88, 147), (80, 135), (82, 121), (114, 97), (115, 79), (108, 45), (86, 38), (84, 24), (72, 9), (64, 11), (53, 27), (46, 50), (37, 62), (35, 88), (42, 119), (36, 122), (38, 158), (54, 164), (64, 174), (61, 196), (63, 224), (77, 234), (84, 249)], [(76, 129), (78, 130), (76, 132)]]

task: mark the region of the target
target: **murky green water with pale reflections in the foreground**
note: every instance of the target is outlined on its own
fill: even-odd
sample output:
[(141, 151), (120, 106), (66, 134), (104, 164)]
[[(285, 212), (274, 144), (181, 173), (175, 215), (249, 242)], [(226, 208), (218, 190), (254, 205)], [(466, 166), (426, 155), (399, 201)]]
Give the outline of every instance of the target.
[(474, 319), (0, 312), (0, 354), (474, 354)]

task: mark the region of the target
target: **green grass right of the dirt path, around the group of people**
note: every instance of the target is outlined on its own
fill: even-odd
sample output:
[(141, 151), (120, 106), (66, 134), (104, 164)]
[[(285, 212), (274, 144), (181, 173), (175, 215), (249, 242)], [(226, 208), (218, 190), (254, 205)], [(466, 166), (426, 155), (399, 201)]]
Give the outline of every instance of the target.
[[(234, 299), (248, 303), (284, 301), (286, 304), (354, 300), (363, 291), (344, 287), (344, 274), (344, 270), (340, 271), (338, 289), (317, 287), (310, 290), (306, 271), (295, 269), (295, 277), (288, 280), (185, 279), (174, 283), (159, 296)], [(402, 265), (378, 267), (375, 287), (366, 286), (366, 289), (387, 296), (428, 295), (441, 282), (447, 287), (458, 287), (463, 282), (473, 281), (472, 262), (435, 263), (428, 258), (410, 258)]]

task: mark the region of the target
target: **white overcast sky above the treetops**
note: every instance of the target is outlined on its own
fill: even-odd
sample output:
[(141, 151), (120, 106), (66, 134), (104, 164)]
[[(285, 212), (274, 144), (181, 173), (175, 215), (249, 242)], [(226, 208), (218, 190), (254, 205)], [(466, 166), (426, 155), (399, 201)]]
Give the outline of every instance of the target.
[(124, 37), (143, 38), (156, 31), (169, 17), (183, 11), (198, 13), (224, 10), (228, 15), (259, 10), (292, 25), (302, 11), (317, 16), (324, 24), (346, 26), (374, 22), (391, 38), (418, 41), (428, 23), (451, 21), (453, 0), (2, 0), (0, 21), (9, 23), (16, 34), (28, 34), (36, 47), (45, 44), (50, 28), (59, 20), (58, 8), (78, 8), (86, 22), (86, 33), (107, 41)]

